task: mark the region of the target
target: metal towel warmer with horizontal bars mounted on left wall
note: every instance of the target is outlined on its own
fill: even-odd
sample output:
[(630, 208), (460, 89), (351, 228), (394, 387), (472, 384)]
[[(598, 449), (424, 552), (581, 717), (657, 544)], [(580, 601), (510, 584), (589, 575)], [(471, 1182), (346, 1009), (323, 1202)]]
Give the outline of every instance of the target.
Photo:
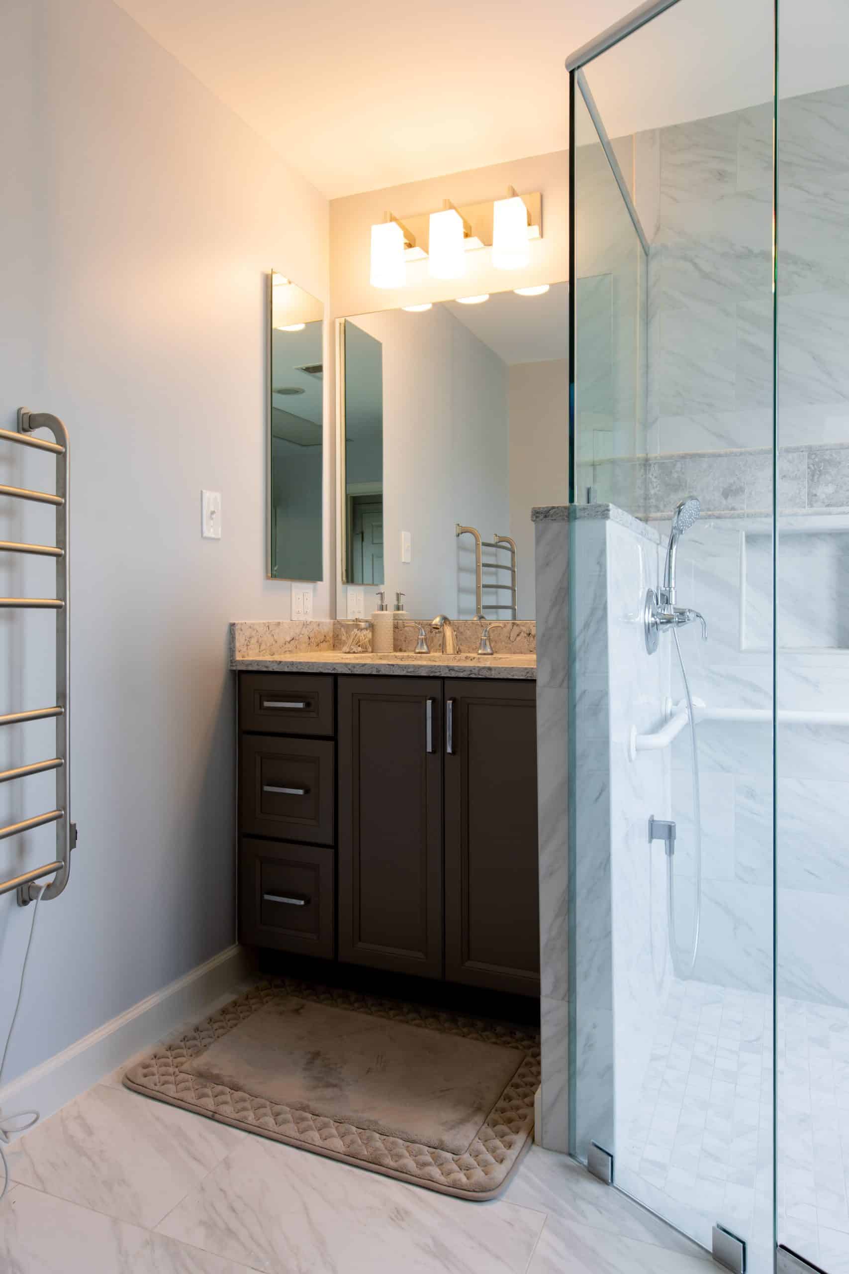
[[(50, 429), (55, 442), (43, 438), (31, 437), (34, 429)], [(76, 827), (69, 818), (69, 757), (67, 757), (67, 708), (69, 708), (69, 628), (67, 628), (67, 550), (69, 550), (69, 525), (67, 525), (67, 429), (57, 415), (46, 412), (31, 412), (22, 406), (18, 409), (18, 433), (10, 429), (0, 429), (0, 442), (17, 442), (24, 447), (33, 447), (37, 451), (48, 451), (56, 456), (56, 493), (43, 490), (27, 490), (22, 487), (5, 487), (0, 484), (0, 496), (10, 496), (13, 499), (32, 499), (39, 505), (53, 505), (56, 507), (56, 544), (15, 544), (10, 540), (0, 540), (1, 553), (34, 553), (38, 557), (52, 557), (56, 559), (56, 596), (55, 598), (0, 598), (0, 608), (33, 609), (56, 612), (56, 703), (48, 708), (33, 708), (29, 712), (9, 712), (0, 716), (0, 726), (18, 725), (24, 721), (41, 721), (45, 717), (56, 717), (56, 755), (50, 761), (36, 761), (31, 766), (18, 766), (15, 769), (0, 772), (0, 784), (10, 782), (13, 778), (25, 778), (27, 775), (39, 775), (48, 769), (56, 771), (56, 809), (46, 814), (37, 814), (34, 818), (25, 818), (20, 823), (11, 823), (9, 827), (0, 827), (0, 841), (10, 836), (19, 836), (20, 832), (29, 832), (45, 823), (56, 823), (56, 859), (46, 862), (32, 871), (0, 880), (0, 894), (11, 893), (17, 889), (18, 903), (25, 907), (32, 902), (39, 891), (33, 892), (33, 884), (45, 877), (53, 879), (43, 888), (41, 897), (45, 899), (57, 898), (67, 884), (71, 865), (71, 850), (76, 845)]]

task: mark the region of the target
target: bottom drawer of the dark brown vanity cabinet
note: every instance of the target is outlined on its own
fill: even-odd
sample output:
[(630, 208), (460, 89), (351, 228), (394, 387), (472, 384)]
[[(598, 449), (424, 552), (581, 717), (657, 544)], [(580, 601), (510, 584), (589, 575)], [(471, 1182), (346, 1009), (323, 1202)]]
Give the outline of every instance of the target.
[(333, 851), (242, 837), (239, 939), (332, 959), (333, 929)]

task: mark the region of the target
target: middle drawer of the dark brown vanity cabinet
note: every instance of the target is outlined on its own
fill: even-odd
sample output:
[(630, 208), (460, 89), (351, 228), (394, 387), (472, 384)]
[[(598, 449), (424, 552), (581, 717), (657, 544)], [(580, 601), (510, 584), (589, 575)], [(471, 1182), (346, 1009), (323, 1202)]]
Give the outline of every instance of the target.
[(332, 743), (242, 735), (242, 831), (332, 845), (333, 764)]

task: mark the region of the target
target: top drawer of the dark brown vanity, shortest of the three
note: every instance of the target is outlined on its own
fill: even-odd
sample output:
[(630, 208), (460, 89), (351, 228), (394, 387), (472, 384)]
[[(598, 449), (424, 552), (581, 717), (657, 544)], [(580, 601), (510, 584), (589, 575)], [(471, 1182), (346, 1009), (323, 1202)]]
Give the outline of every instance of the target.
[(242, 673), (239, 729), (332, 738), (333, 678)]

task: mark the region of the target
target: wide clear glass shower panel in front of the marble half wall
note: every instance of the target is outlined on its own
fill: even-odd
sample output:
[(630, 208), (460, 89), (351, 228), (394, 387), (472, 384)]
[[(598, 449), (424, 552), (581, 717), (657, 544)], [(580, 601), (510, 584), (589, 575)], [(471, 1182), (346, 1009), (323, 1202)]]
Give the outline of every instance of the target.
[[(704, 1247), (738, 1236), (750, 1274), (774, 1255), (773, 17), (681, 0), (589, 62), (573, 189), (578, 279), (608, 276), (612, 334), (582, 344), (579, 289), (574, 1148)], [(640, 316), (626, 405), (615, 335)], [(657, 605), (689, 613), (652, 652), (647, 590), (671, 582)]]

